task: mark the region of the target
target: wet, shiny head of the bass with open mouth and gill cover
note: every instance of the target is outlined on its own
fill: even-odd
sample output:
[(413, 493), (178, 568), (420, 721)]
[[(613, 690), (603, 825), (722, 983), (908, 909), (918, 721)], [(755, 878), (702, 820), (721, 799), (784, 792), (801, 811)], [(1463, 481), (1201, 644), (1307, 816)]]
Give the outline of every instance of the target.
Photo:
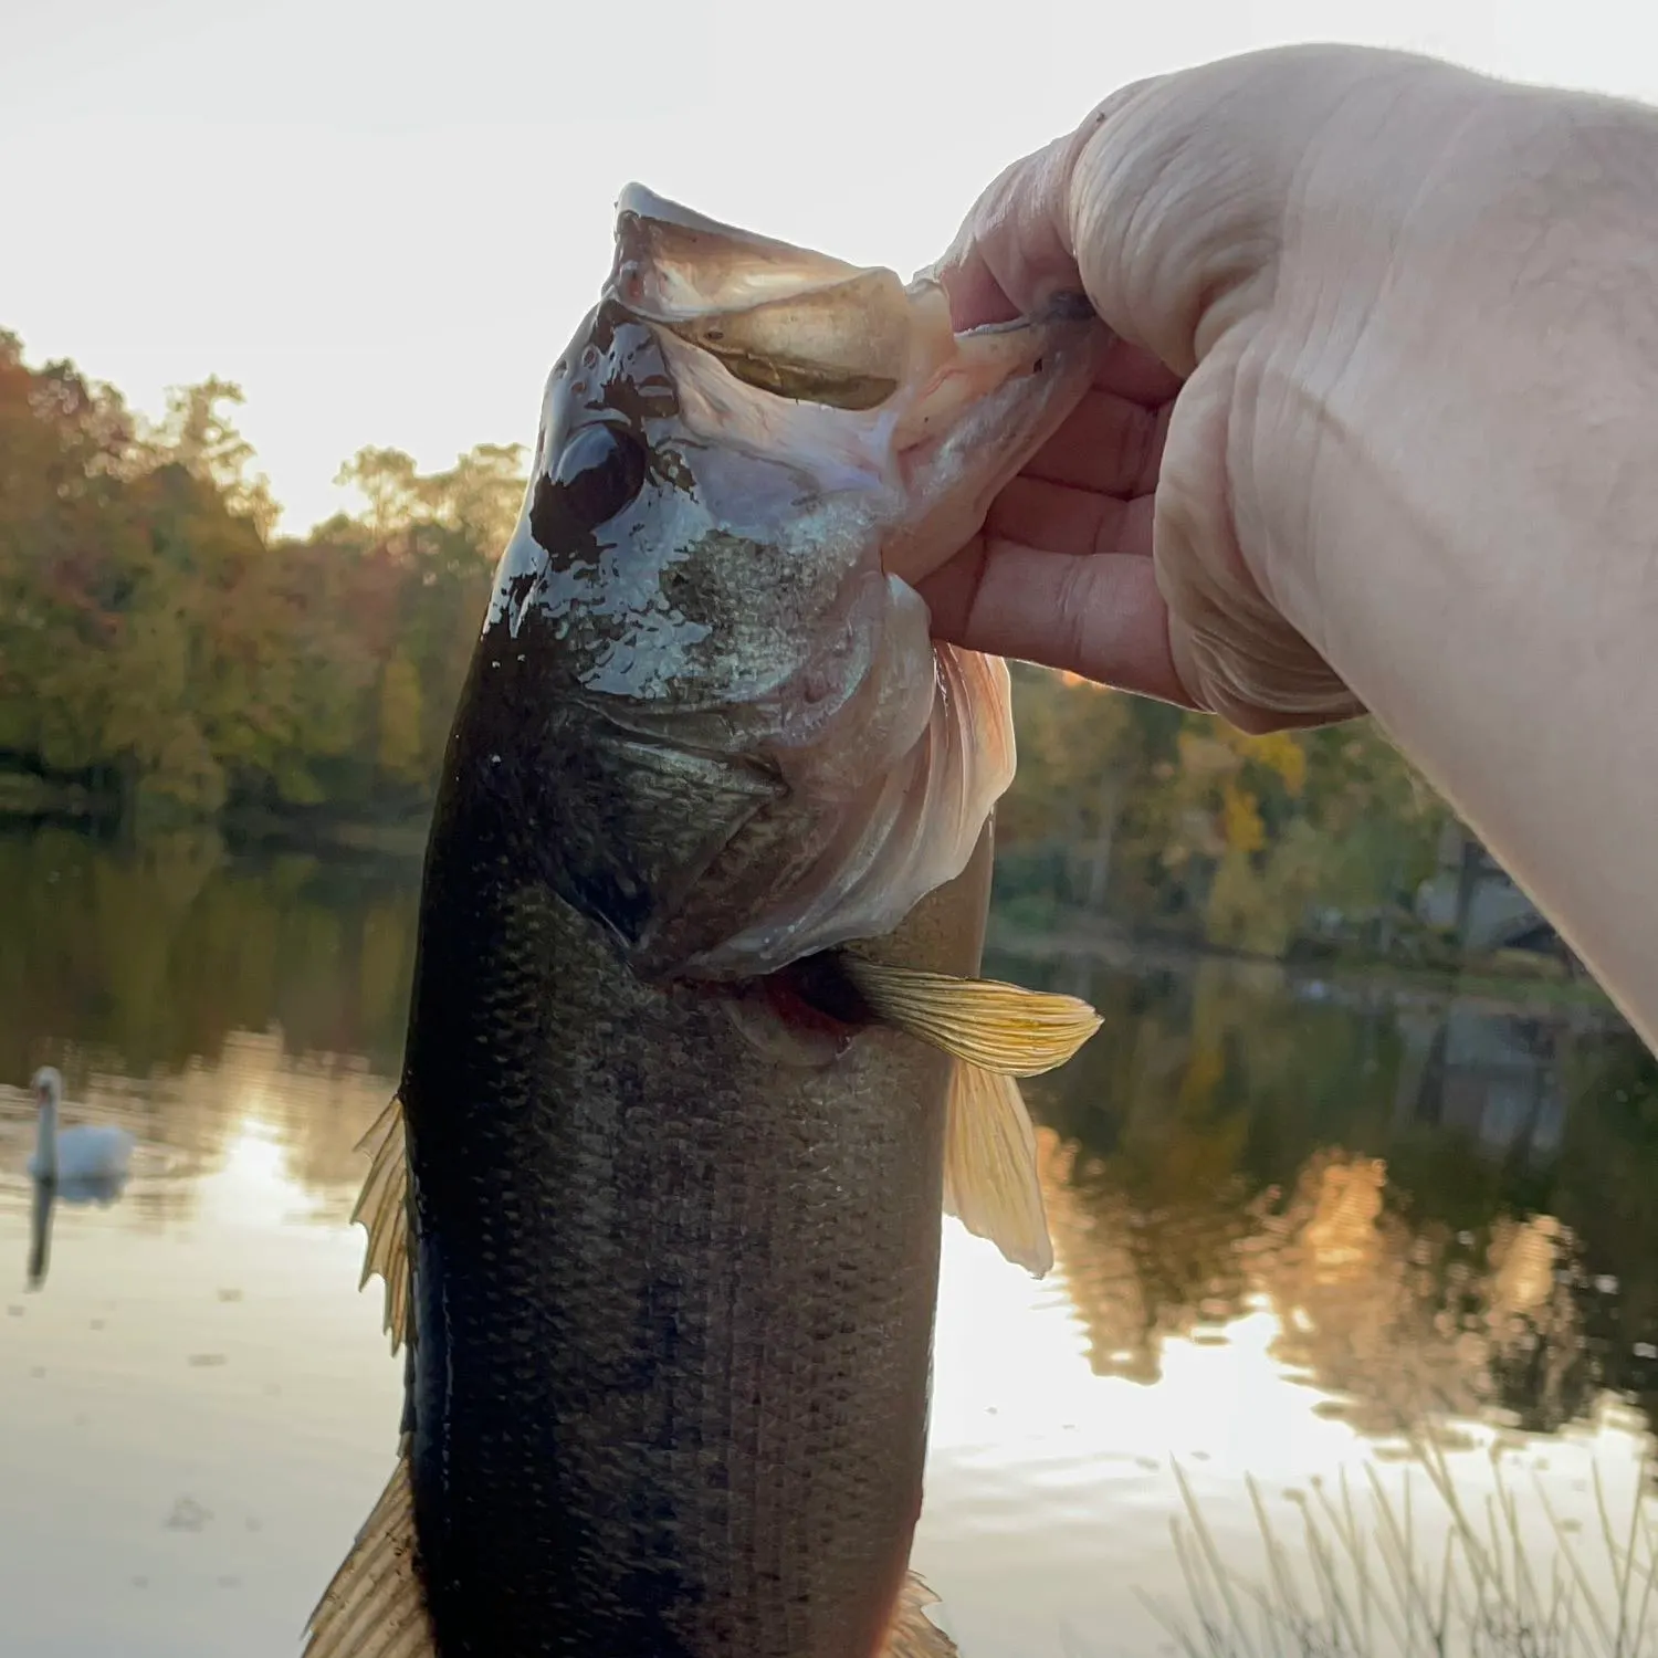
[(557, 710), (549, 856), (638, 970), (773, 972), (967, 865), (1011, 781), (1006, 673), (935, 648), (912, 582), (1101, 338), (1076, 300), (957, 335), (927, 277), (623, 192), (479, 658)]

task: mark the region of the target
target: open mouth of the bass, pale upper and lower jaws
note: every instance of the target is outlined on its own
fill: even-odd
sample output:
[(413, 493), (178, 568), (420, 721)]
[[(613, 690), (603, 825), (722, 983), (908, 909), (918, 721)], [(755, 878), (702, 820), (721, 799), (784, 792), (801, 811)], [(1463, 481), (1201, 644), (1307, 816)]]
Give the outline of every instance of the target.
[(814, 448), (862, 441), (869, 473), (895, 486), (882, 567), (912, 585), (980, 531), (996, 492), (1088, 390), (1108, 338), (1081, 293), (957, 333), (930, 274), (905, 285), (638, 184), (617, 204), (608, 292), (739, 378), (791, 396), (799, 414), (779, 434), (807, 466)]

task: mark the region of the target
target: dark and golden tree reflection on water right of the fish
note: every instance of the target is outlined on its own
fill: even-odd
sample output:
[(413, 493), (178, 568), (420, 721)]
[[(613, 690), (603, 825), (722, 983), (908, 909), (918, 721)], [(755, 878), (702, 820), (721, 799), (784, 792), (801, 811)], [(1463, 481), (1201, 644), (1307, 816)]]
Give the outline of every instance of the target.
[(1658, 1078), (1625, 1030), (1224, 962), (1093, 991), (1106, 1028), (1031, 1094), (1098, 1374), (1156, 1383), (1169, 1336), (1263, 1298), (1275, 1353), (1371, 1436), (1648, 1403)]

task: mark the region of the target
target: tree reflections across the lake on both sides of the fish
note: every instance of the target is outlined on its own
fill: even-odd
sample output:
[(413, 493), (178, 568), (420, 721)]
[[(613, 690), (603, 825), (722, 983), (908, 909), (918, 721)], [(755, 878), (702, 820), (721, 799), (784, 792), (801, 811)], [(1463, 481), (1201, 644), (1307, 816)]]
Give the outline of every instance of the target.
[[(139, 1139), (123, 1224), (186, 1215), (249, 1124), (343, 1219), (403, 1043), (418, 865), (0, 837), (0, 1078)], [(1093, 1368), (1273, 1311), (1280, 1365), (1365, 1434), (1582, 1421), (1658, 1381), (1658, 1074), (1622, 1026), (1224, 960), (991, 962), (1104, 1028), (1030, 1084)], [(75, 1113), (80, 1113), (76, 1117)], [(0, 1094), (20, 1167), (27, 1094)]]

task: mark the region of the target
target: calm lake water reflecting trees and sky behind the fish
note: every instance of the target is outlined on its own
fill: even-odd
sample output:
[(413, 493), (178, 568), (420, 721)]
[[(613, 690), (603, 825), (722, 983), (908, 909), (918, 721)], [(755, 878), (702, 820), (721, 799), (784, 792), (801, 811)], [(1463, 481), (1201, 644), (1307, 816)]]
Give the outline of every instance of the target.
[[(0, 837), (0, 1651), (297, 1655), (396, 1441), (348, 1214), (414, 882)], [(1146, 1597), (1192, 1617), (1182, 1479), (1245, 1578), (1252, 1481), (1298, 1537), (1346, 1477), (1378, 1562), (1368, 1481), (1411, 1491), (1434, 1567), (1421, 1446), (1476, 1519), (1514, 1494), (1539, 1582), (1563, 1537), (1602, 1595), (1597, 1487), (1625, 1524), (1658, 1396), (1658, 1078), (1626, 1033), (1219, 960), (991, 967), (1106, 1023), (1030, 1086), (1058, 1268), (945, 1227), (915, 1563), (965, 1658), (1172, 1650)], [(45, 1217), (32, 1287), (43, 1061), (66, 1122), (139, 1147), (116, 1202)]]

